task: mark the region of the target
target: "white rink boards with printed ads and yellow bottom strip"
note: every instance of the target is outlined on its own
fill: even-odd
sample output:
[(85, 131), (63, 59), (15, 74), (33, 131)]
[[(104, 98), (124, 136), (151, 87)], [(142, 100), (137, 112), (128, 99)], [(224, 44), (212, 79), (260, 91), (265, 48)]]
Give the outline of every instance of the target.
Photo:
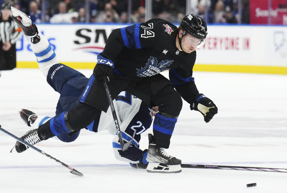
[[(126, 25), (38, 24), (61, 63), (94, 68), (113, 29)], [(17, 67), (37, 67), (27, 38), (16, 44)], [(246, 67), (247, 66), (247, 67)], [(209, 25), (194, 70), (287, 74), (286, 26)]]

